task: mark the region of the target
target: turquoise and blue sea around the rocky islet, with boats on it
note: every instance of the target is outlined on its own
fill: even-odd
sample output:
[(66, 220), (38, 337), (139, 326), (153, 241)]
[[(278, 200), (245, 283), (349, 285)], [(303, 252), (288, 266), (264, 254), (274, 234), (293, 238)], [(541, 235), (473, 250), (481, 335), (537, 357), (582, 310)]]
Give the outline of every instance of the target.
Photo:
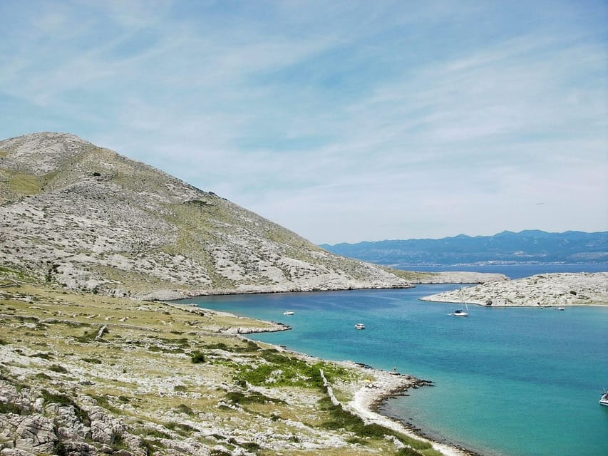
[[(498, 272), (608, 271), (608, 264), (411, 266)], [(203, 296), (178, 301), (281, 321), (256, 341), (431, 380), (386, 400), (381, 413), (439, 442), (488, 456), (608, 455), (608, 307), (486, 308), (419, 301), (461, 284), (413, 289)], [(283, 311), (294, 311), (284, 316)], [(355, 323), (366, 329), (357, 331)]]

